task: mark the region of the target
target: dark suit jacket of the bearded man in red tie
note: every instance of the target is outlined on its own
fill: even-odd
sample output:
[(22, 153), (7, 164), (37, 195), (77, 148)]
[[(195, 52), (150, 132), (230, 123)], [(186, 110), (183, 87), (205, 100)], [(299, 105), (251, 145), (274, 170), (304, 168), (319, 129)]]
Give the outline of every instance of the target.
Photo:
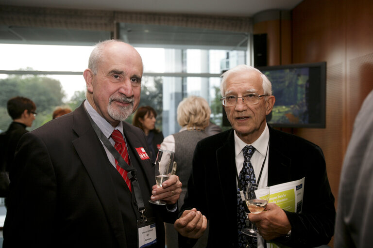
[[(177, 213), (148, 202), (154, 169), (135, 150), (148, 149), (145, 135), (125, 122), (123, 129), (145, 216), (155, 217), (156, 247), (163, 248), (163, 221), (174, 220)], [(140, 214), (134, 195), (109, 162), (83, 104), (24, 135), (13, 169), (4, 247), (137, 248)]]

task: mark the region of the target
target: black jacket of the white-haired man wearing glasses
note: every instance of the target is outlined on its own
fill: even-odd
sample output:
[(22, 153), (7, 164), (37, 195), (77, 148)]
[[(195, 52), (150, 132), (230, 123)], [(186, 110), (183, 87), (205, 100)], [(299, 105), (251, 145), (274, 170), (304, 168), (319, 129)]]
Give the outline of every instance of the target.
[[(320, 147), (270, 128), (269, 186), (305, 177), (302, 214), (286, 212), (293, 247), (327, 244), (334, 231), (335, 207)], [(201, 140), (180, 213), (196, 207), (209, 219), (207, 247), (237, 247), (237, 184), (234, 130)], [(281, 239), (277, 240), (282, 242)], [(179, 239), (180, 247), (192, 240)]]

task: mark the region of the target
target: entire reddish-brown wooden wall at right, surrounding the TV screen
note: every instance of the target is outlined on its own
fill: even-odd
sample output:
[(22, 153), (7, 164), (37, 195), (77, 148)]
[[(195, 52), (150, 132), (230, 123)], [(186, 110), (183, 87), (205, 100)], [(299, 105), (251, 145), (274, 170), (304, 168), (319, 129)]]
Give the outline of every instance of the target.
[(326, 128), (293, 132), (322, 147), (336, 206), (355, 117), (373, 89), (372, 16), (372, 0), (304, 0), (292, 10), (293, 62), (327, 62)]

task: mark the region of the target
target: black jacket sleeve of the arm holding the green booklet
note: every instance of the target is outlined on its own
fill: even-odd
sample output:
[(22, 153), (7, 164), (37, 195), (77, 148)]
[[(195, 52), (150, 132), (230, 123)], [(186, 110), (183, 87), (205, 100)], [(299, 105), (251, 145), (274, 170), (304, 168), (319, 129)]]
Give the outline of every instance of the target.
[(309, 149), (303, 165), (306, 169), (302, 213), (285, 211), (291, 224), (289, 240), (277, 241), (290, 247), (317, 247), (328, 244), (334, 233), (335, 206), (320, 147)]

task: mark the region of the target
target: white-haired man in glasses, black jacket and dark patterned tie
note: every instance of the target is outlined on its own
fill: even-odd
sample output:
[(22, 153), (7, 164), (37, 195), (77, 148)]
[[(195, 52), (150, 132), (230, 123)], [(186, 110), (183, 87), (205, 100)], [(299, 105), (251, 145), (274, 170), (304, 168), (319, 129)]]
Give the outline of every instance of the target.
[[(203, 235), (207, 219), (207, 247), (266, 247), (270, 240), (302, 248), (328, 244), (336, 211), (321, 148), (267, 124), (275, 97), (271, 82), (254, 67), (238, 65), (222, 74), (220, 91), (232, 129), (196, 146), (184, 205), (174, 223), (179, 247), (192, 247)], [(244, 158), (249, 145), (252, 166)], [(302, 213), (268, 203), (265, 211), (249, 214), (262, 235), (257, 240), (240, 232), (248, 211), (237, 190), (238, 178), (241, 181), (253, 170), (252, 180), (268, 186), (305, 177)]]

